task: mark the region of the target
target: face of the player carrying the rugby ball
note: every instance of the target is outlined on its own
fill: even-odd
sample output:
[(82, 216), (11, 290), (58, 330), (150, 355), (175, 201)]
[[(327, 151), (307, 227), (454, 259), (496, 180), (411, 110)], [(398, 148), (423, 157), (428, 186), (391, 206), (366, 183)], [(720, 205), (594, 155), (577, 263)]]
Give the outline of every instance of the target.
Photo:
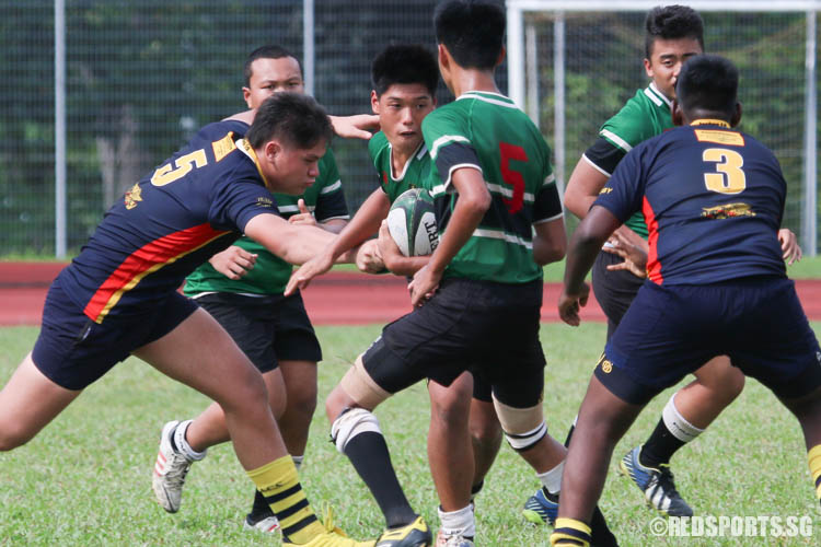
[(391, 146), (414, 151), (421, 142), (421, 120), (436, 107), (428, 89), (420, 83), (395, 83), (381, 96), (371, 93), (371, 107)]

